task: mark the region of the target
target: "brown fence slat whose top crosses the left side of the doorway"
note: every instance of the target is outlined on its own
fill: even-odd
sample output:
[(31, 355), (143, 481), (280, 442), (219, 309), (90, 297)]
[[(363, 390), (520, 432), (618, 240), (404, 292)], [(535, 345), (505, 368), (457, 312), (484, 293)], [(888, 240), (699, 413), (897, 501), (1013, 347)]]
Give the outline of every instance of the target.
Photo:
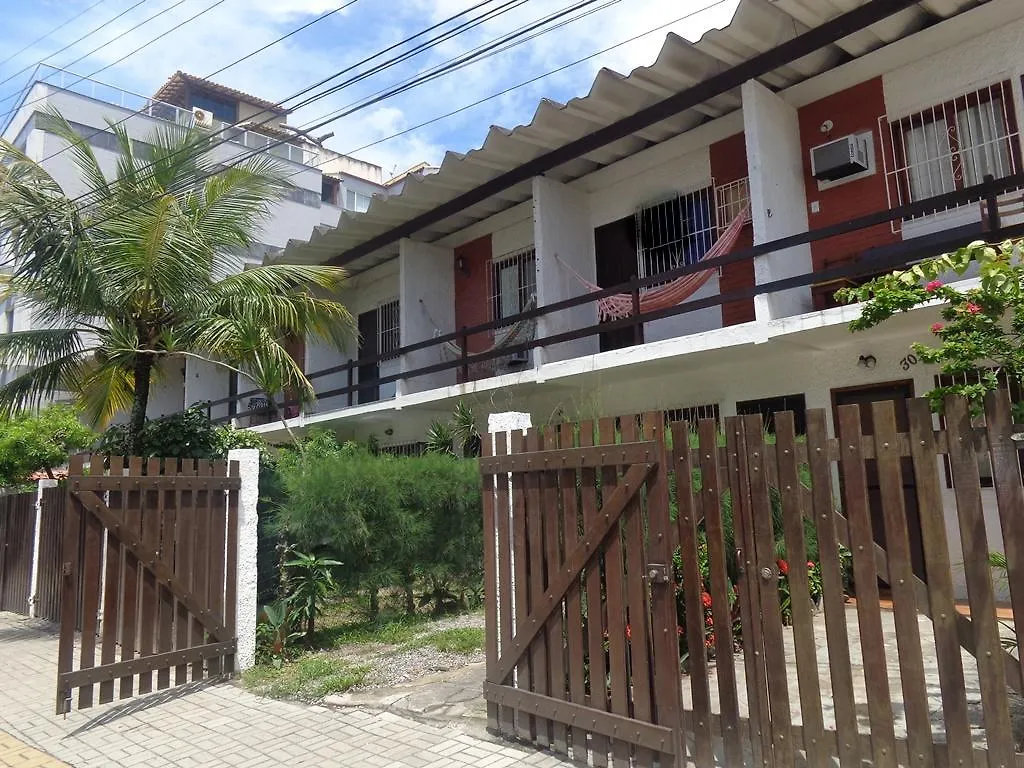
[(860, 650), (864, 659), (867, 712), (871, 724), (871, 746), (879, 768), (896, 765), (896, 734), (893, 728), (892, 698), (882, 612), (879, 606), (879, 573), (874, 566), (874, 539), (867, 496), (864, 457), (861, 452), (860, 409), (841, 406), (839, 439), (843, 446), (840, 470), (843, 480), (846, 518), (850, 528), (853, 578), (857, 585), (857, 621)]

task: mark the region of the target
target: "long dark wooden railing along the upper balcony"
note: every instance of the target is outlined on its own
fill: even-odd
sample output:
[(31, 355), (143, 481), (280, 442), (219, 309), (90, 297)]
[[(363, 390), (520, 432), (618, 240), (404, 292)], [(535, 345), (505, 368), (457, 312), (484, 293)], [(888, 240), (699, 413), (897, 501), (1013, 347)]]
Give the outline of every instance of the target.
[[(328, 397), (337, 397), (347, 395), (348, 404), (354, 404), (353, 398), (356, 392), (361, 389), (369, 389), (373, 387), (379, 387), (382, 384), (388, 384), (396, 381), (408, 381), (411, 379), (416, 379), (421, 376), (427, 376), (429, 374), (440, 373), (443, 371), (461, 370), (464, 372), (468, 371), (470, 365), (474, 362), (481, 362), (484, 360), (494, 359), (497, 357), (503, 357), (510, 354), (515, 354), (516, 352), (521, 352), (529, 349), (544, 348), (548, 346), (553, 346), (556, 344), (563, 344), (565, 342), (575, 341), (579, 339), (588, 338), (591, 336), (597, 336), (601, 333), (608, 331), (615, 331), (618, 329), (637, 329), (642, 327), (645, 323), (650, 323), (656, 319), (664, 319), (666, 317), (674, 317), (677, 315), (685, 314), (687, 312), (697, 311), (699, 309), (706, 309), (712, 306), (718, 306), (721, 304), (727, 304), (732, 301), (751, 299), (755, 296), (777, 293), (779, 291), (787, 291), (795, 288), (804, 288), (814, 285), (825, 284), (829, 282), (841, 283), (843, 281), (857, 281), (858, 279), (866, 278), (868, 275), (879, 274), (892, 269), (897, 269), (906, 266), (909, 263), (927, 258), (929, 256), (937, 255), (946, 251), (954, 250), (961, 246), (967, 245), (968, 243), (975, 240), (1006, 240), (1008, 238), (1020, 238), (1024, 237), (1024, 224), (1016, 224), (1012, 226), (1004, 226), (1002, 222), (999, 220), (999, 210), (997, 205), (997, 198), (1007, 191), (1024, 188), (1024, 173), (1018, 173), (1012, 176), (1006, 176), (1001, 179), (992, 179), (991, 177), (986, 177), (985, 181), (981, 184), (975, 186), (967, 187), (964, 189), (957, 189), (952, 193), (947, 193), (944, 195), (936, 196), (934, 198), (929, 198), (928, 200), (922, 200), (916, 203), (910, 203), (907, 205), (899, 206), (898, 208), (890, 208), (876, 213), (870, 213), (865, 216), (858, 216), (857, 218), (850, 219), (849, 221), (840, 222), (838, 224), (831, 224), (829, 226), (820, 227), (818, 229), (812, 229), (807, 232), (800, 232), (797, 234), (792, 234), (785, 238), (779, 238), (770, 243), (763, 243), (760, 245), (753, 246), (751, 248), (744, 248), (742, 250), (734, 251), (732, 253), (720, 256), (715, 259), (709, 259), (708, 261), (701, 261), (697, 264), (691, 264), (687, 266), (682, 266), (677, 269), (673, 269), (670, 272), (657, 274), (650, 278), (643, 278), (638, 280), (630, 281), (620, 286), (614, 286), (612, 288), (602, 289), (600, 291), (594, 291), (592, 293), (587, 293), (582, 296), (575, 296), (568, 299), (563, 299), (561, 301), (556, 301), (551, 304), (546, 304), (544, 306), (539, 306), (528, 311), (522, 312), (518, 315), (513, 315), (510, 317), (503, 317), (498, 321), (493, 321), (490, 323), (483, 323), (476, 326), (467, 326), (460, 328), (458, 331), (437, 336), (432, 339), (427, 339), (425, 341), (420, 341), (415, 344), (410, 344), (403, 346), (395, 351), (388, 352), (387, 354), (378, 354), (373, 356), (364, 357), (357, 360), (348, 360), (339, 366), (333, 366), (323, 371), (316, 371), (307, 374), (310, 381), (315, 382), (326, 376), (331, 376), (338, 373), (347, 374), (347, 384), (343, 387), (337, 387), (334, 389), (329, 389), (326, 391), (318, 391), (316, 393), (317, 398), (324, 399)], [(638, 309), (634, 310), (634, 313), (623, 319), (613, 321), (609, 323), (598, 323), (587, 326), (585, 328), (573, 329), (571, 331), (566, 331), (559, 334), (554, 334), (552, 336), (546, 336), (542, 338), (534, 338), (528, 341), (523, 341), (519, 344), (510, 345), (508, 347), (503, 347), (501, 349), (490, 349), (484, 352), (471, 353), (467, 351), (467, 339), (479, 333), (493, 332), (500, 328), (505, 328), (513, 323), (521, 319), (527, 319), (531, 317), (543, 317), (546, 315), (554, 314), (556, 312), (564, 311), (566, 309), (571, 309), (578, 306), (584, 306), (586, 304), (593, 304), (599, 299), (605, 298), (607, 296), (612, 296), (615, 294), (629, 293), (634, 296), (639, 296), (639, 292), (645, 288), (649, 288), (654, 284), (664, 283), (666, 280), (676, 280), (685, 274), (691, 274), (698, 271), (703, 271), (705, 269), (713, 269), (725, 266), (727, 264), (732, 264), (740, 261), (746, 261), (751, 259), (756, 259), (762, 256), (767, 256), (769, 254), (783, 251), (788, 248), (794, 248), (796, 246), (807, 245), (810, 243), (815, 243), (818, 241), (824, 241), (829, 238), (835, 238), (841, 234), (847, 234), (849, 232), (857, 231), (859, 229), (865, 229), (871, 226), (877, 226), (878, 224), (887, 223), (889, 221), (905, 219), (911, 216), (926, 215), (929, 213), (934, 213), (936, 211), (945, 210), (953, 206), (964, 205), (966, 203), (982, 203), (984, 205), (984, 210), (987, 212), (985, 221), (979, 221), (977, 225), (971, 225), (967, 227), (957, 227), (955, 229), (949, 230), (947, 232), (937, 232), (935, 234), (929, 236), (927, 238), (916, 238), (902, 243), (896, 244), (894, 246), (888, 246), (886, 248), (880, 248), (873, 251), (866, 251), (859, 257), (845, 261), (843, 263), (837, 264), (835, 266), (828, 266), (824, 269), (812, 272), (806, 272), (803, 274), (798, 274), (790, 278), (784, 278), (781, 280), (772, 281), (770, 283), (764, 283), (761, 285), (750, 286), (735, 291), (729, 291), (727, 293), (720, 293), (717, 296), (709, 296), (700, 299), (691, 299), (677, 306), (668, 307), (664, 309), (657, 309), (648, 312), (640, 312)], [(635, 302), (638, 303), (638, 302)], [(422, 366), (420, 368), (402, 371), (397, 374), (389, 374), (387, 376), (378, 376), (374, 379), (368, 381), (355, 381), (355, 372), (358, 368), (364, 366), (374, 366), (380, 364), (385, 357), (394, 357), (397, 355), (407, 354), (410, 352), (419, 351), (422, 349), (429, 349), (431, 347), (438, 347), (447, 341), (457, 342), (463, 350), (463, 353), (457, 359), (452, 360), (440, 360), (438, 362)], [(245, 402), (251, 397), (265, 396), (259, 390), (250, 390), (247, 392), (240, 392), (237, 395), (229, 397), (223, 397), (217, 400), (211, 400), (204, 403), (208, 413), (213, 415), (213, 410), (221, 406), (226, 406), (230, 402)], [(283, 401), (275, 403), (268, 403), (268, 407), (263, 412), (263, 419), (265, 420), (270, 414), (289, 414), (294, 411), (294, 407), (298, 403), (294, 401)], [(291, 407), (291, 408), (290, 408)], [(257, 414), (253, 411), (249, 411), (250, 416), (256, 416)], [(224, 416), (214, 418), (215, 422), (225, 422), (231, 417)]]

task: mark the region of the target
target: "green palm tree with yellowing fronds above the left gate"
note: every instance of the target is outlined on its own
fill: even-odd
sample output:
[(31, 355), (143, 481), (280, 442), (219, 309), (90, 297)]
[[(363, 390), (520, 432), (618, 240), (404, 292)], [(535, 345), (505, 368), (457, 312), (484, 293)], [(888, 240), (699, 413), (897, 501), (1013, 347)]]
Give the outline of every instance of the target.
[(308, 401), (313, 389), (286, 351), (290, 338), (342, 346), (351, 314), (324, 298), (344, 271), (271, 264), (243, 270), (251, 246), (289, 188), (262, 155), (221, 169), (214, 137), (175, 125), (147, 143), (110, 124), (112, 177), (56, 111), (37, 126), (68, 143), (84, 182), (71, 196), (39, 164), (0, 141), (0, 239), (5, 286), (38, 330), (0, 335), (0, 366), (25, 370), (0, 387), (0, 413), (72, 393), (96, 424), (129, 411), (139, 451), (150, 388), (170, 358), (248, 376), (269, 395)]

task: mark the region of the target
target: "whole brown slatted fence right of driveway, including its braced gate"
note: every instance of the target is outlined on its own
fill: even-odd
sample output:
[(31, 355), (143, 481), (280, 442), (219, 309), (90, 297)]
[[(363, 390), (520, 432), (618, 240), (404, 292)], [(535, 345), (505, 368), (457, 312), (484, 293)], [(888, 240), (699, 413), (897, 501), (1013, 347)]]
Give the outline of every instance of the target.
[(773, 434), (749, 416), (667, 435), (648, 414), (643, 442), (635, 418), (602, 420), (596, 449), (587, 423), (499, 435), (481, 461), (490, 727), (615, 768), (1024, 765), (1024, 633), (996, 604), (1024, 615), (1024, 428), (1005, 396), (983, 419), (949, 400), (938, 431), (906, 404), (902, 433), (892, 401), (864, 406), (870, 435), (842, 407), (838, 438), (819, 410), (800, 436), (788, 413)]

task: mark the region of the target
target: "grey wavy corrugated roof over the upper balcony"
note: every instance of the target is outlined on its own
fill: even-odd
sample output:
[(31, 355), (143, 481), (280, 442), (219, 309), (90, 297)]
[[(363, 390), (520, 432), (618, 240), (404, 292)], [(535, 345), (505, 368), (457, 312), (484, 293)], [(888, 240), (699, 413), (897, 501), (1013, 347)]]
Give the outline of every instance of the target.
[[(528, 160), (749, 60), (866, 2), (741, 0), (728, 27), (711, 30), (695, 43), (675, 34), (668, 35), (656, 60), (649, 67), (640, 67), (628, 76), (601, 70), (586, 96), (573, 98), (565, 104), (544, 99), (528, 124), (511, 130), (492, 126), (479, 148), (465, 154), (446, 153), (437, 173), (411, 176), (400, 195), (374, 198), (366, 213), (343, 213), (338, 227), (317, 230), (308, 242), (293, 241), (279, 253), (278, 258), (316, 263), (337, 256)], [(780, 67), (760, 80), (773, 89), (787, 88), (845, 60), (906, 37), (938, 19), (956, 15), (984, 2), (986, 0), (921, 0), (884, 22)], [(567, 162), (548, 175), (562, 182), (578, 179), (685, 133), (701, 123), (734, 112), (740, 104), (738, 90), (722, 93), (694, 109)], [(428, 242), (439, 240), (518, 205), (528, 200), (530, 195), (530, 183), (520, 183), (421, 230), (417, 239)], [(397, 244), (394, 244), (350, 266), (361, 271), (396, 252)]]

